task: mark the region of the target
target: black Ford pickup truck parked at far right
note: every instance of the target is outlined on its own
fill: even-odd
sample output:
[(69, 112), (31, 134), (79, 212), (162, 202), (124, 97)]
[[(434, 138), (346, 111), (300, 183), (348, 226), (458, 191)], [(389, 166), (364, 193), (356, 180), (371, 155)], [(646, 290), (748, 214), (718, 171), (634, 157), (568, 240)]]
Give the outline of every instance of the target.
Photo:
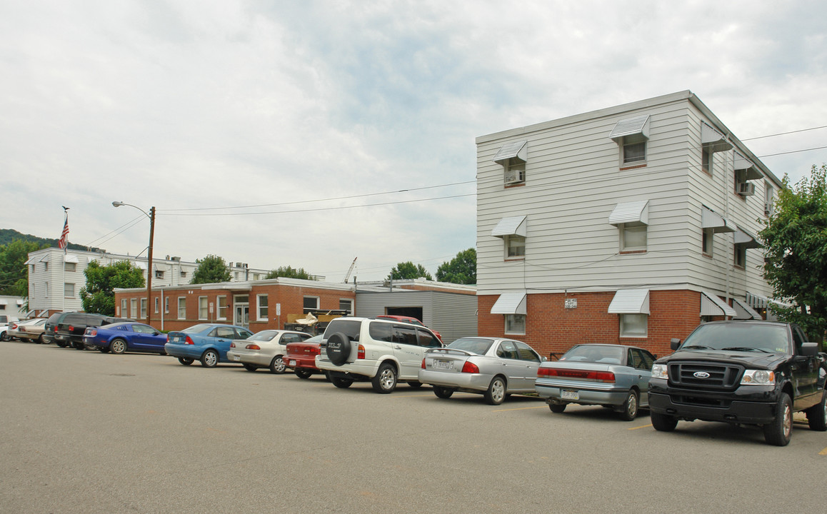
[(672, 340), (649, 381), (649, 413), (658, 431), (679, 420), (761, 426), (770, 445), (785, 446), (793, 412), (827, 431), (825, 354), (801, 327), (770, 321), (713, 321)]

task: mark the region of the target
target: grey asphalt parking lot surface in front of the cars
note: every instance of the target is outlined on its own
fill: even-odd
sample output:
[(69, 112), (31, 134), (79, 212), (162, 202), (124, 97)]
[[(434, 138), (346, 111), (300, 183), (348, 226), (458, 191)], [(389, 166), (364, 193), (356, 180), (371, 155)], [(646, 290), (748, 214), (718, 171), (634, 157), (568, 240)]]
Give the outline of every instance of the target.
[[(0, 343), (0, 512), (823, 512), (827, 435)], [(796, 418), (801, 420), (803, 418)]]

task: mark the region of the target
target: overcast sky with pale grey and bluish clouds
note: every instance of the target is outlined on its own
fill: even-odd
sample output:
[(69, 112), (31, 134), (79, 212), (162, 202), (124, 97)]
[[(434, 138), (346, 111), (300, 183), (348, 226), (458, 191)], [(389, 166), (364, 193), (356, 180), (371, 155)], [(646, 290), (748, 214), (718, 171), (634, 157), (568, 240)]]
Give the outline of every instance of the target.
[(59, 237), (65, 205), (71, 242), (144, 252), (117, 200), (156, 207), (156, 258), (434, 274), (476, 245), (477, 136), (686, 89), (772, 136), (746, 144), (795, 183), (827, 162), (805, 130), (827, 126), (825, 20), (823, 0), (0, 0), (0, 228)]

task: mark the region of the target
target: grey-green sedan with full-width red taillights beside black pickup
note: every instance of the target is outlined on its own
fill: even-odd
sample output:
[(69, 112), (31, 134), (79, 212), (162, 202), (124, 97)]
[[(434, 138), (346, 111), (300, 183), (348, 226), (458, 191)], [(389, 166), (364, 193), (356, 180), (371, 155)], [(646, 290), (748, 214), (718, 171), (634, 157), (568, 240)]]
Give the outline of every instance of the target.
[(535, 387), (552, 412), (569, 403), (602, 405), (626, 421), (648, 407), (649, 378), (655, 357), (624, 345), (576, 345), (557, 361), (543, 363)]

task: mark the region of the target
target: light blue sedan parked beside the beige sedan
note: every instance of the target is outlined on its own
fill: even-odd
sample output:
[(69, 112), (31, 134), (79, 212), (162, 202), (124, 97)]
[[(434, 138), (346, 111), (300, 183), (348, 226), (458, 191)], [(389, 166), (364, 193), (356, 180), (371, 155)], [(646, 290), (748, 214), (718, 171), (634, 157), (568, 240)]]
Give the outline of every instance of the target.
[(243, 326), (219, 323), (199, 323), (167, 334), (166, 353), (178, 357), (184, 366), (199, 360), (205, 368), (214, 368), (220, 362), (230, 362), (227, 350), (233, 340), (246, 339), (253, 333)]

